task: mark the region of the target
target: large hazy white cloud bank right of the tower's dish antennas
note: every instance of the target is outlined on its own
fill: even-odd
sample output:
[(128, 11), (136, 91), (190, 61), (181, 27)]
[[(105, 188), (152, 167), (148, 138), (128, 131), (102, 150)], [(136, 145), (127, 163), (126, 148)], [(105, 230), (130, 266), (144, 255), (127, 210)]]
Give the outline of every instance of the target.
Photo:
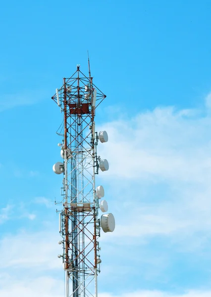
[(101, 177), (112, 187), (109, 211), (117, 214), (109, 240), (164, 235), (200, 248), (199, 238), (211, 236), (210, 127), (209, 112), (174, 107), (100, 127), (109, 141), (98, 146), (99, 154), (110, 165)]

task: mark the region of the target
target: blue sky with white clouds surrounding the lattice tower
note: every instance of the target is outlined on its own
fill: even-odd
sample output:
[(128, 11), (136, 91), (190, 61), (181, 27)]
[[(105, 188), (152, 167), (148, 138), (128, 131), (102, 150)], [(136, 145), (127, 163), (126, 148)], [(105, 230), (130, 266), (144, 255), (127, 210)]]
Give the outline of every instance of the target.
[(98, 177), (116, 229), (99, 297), (211, 296), (211, 1), (2, 1), (0, 296), (62, 297), (51, 97), (76, 64), (106, 94)]

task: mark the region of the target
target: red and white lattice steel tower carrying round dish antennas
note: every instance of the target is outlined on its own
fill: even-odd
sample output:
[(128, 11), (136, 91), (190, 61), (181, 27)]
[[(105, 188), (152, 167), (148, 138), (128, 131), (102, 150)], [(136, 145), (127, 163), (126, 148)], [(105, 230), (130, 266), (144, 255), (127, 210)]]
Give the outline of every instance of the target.
[(53, 165), (56, 174), (63, 174), (59, 212), (59, 232), (62, 240), (65, 271), (65, 297), (97, 297), (97, 276), (100, 272), (99, 237), (101, 228), (112, 232), (115, 228), (111, 213), (98, 218), (99, 208), (107, 211), (103, 186), (95, 185), (99, 170), (108, 170), (108, 162), (97, 155), (99, 142), (108, 140), (106, 131), (95, 132), (95, 112), (106, 96), (86, 77), (77, 65), (70, 78), (56, 89), (52, 99), (63, 113), (57, 131), (62, 136), (60, 155), (63, 162)]

